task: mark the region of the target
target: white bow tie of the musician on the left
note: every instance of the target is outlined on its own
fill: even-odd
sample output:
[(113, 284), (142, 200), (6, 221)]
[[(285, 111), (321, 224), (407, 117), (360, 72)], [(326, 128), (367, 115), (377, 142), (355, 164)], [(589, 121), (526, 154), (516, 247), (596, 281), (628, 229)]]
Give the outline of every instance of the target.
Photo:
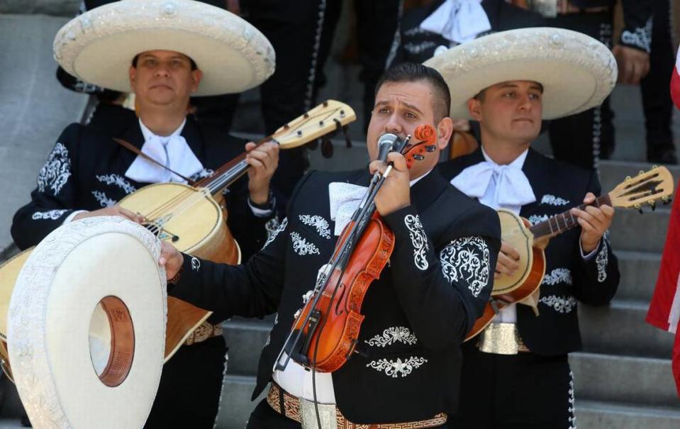
[[(167, 143), (165, 143), (167, 142)], [(163, 144), (165, 143), (165, 145)], [(191, 177), (203, 169), (201, 161), (191, 151), (182, 135), (160, 137), (152, 135), (142, 146), (142, 152), (152, 159), (160, 162), (184, 177)], [(158, 182), (184, 182), (182, 177), (169, 172), (167, 169), (145, 160), (139, 155), (128, 168), (125, 174), (130, 179), (143, 183)]]

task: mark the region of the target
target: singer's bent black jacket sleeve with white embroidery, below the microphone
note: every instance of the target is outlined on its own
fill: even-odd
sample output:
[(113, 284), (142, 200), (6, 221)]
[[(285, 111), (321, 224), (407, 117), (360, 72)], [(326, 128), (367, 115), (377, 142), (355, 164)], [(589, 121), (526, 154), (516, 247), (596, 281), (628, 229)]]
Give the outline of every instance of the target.
[(439, 248), (413, 206), (384, 218), (395, 235), (394, 288), (418, 339), (432, 349), (461, 343), (489, 301), (501, 248), (498, 216), (481, 206), (464, 212)]

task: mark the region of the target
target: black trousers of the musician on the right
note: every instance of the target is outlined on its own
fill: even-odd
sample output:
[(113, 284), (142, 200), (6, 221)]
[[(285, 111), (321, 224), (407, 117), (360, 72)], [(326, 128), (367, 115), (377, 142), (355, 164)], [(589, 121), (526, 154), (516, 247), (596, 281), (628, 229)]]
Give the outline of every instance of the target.
[(576, 428), (567, 355), (496, 355), (463, 345), (458, 413), (452, 428)]

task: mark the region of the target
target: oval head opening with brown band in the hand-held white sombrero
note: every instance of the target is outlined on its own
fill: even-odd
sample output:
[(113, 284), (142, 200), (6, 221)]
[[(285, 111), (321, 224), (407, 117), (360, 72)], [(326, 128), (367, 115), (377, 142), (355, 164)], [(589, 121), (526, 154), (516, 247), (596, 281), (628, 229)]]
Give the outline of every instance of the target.
[(90, 318), (90, 359), (99, 380), (109, 387), (123, 383), (135, 357), (135, 328), (130, 311), (116, 296), (105, 296)]

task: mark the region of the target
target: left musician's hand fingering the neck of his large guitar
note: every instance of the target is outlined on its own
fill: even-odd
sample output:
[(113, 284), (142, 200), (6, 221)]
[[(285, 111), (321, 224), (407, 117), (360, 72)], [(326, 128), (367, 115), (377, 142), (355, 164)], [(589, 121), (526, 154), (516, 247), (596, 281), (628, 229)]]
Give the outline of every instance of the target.
[(248, 169), (248, 190), (255, 204), (266, 204), (269, 199), (269, 182), (279, 165), (279, 145), (267, 142), (256, 147), (255, 143), (245, 145)]

